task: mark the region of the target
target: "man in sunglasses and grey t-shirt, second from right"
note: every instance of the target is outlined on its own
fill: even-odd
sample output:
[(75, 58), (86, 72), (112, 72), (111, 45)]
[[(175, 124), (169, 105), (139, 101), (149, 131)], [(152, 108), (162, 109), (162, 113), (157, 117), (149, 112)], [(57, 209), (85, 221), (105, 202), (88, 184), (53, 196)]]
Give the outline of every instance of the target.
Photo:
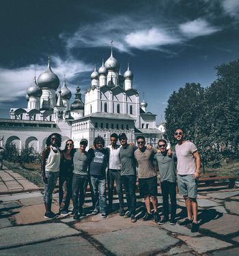
[(175, 162), (177, 157), (175, 152), (172, 155), (168, 155), (166, 140), (158, 140), (158, 149), (160, 153), (157, 153), (154, 157), (158, 164), (158, 171), (160, 175), (160, 187), (163, 196), (163, 219), (158, 224), (165, 224), (169, 222), (169, 195), (171, 201), (171, 218), (170, 224), (175, 225), (175, 214), (177, 209), (176, 203), (176, 175), (175, 175)]

